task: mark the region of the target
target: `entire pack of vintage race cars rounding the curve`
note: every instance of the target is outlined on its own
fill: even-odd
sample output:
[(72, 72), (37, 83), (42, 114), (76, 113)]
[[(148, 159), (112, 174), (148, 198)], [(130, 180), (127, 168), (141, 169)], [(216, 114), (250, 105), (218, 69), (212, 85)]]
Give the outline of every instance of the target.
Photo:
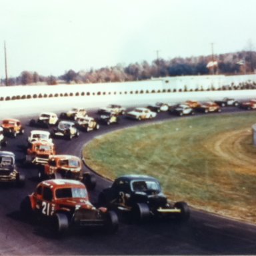
[[(187, 203), (171, 203), (163, 194), (159, 181), (147, 175), (124, 175), (118, 177), (109, 188), (99, 193), (98, 208), (93, 206), (88, 191), (96, 186), (95, 176), (83, 171), (83, 164), (74, 155), (58, 155), (54, 138), (73, 139), (79, 131), (98, 130), (100, 125), (119, 123), (120, 117), (141, 121), (153, 119), (157, 113), (169, 111), (174, 115), (194, 115), (195, 112), (221, 112), (221, 107), (238, 106), (241, 109), (256, 109), (256, 100), (239, 103), (234, 99), (199, 103), (186, 101), (181, 104), (156, 103), (127, 111), (120, 105), (99, 109), (98, 118), (89, 117), (83, 108), (73, 108), (59, 117), (55, 113), (41, 113), (31, 119), (29, 126), (50, 129), (34, 129), (27, 138), (23, 164), (37, 167), (35, 177), (40, 181), (35, 191), (21, 202), (23, 217), (35, 217), (49, 223), (55, 233), (65, 233), (69, 228), (91, 226), (105, 227), (107, 231), (118, 229), (117, 213), (135, 221), (148, 219), (172, 219), (187, 221), (190, 210)], [(1, 146), (7, 145), (6, 137), (23, 135), (24, 125), (17, 119), (4, 119), (0, 127)], [(15, 155), (0, 151), (0, 183), (25, 185), (25, 175), (17, 170)]]

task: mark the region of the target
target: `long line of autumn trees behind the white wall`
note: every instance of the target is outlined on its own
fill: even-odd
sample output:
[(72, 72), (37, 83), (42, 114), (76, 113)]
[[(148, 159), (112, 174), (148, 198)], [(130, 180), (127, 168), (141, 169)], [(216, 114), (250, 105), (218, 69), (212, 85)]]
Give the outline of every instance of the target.
[[(217, 61), (215, 69), (207, 68), (209, 61)], [(175, 57), (173, 59), (155, 59), (152, 63), (142, 61), (131, 63), (124, 67), (121, 64), (114, 67), (102, 67), (89, 71), (73, 71), (70, 69), (63, 75), (47, 77), (33, 71), (23, 71), (18, 77), (8, 79), (8, 85), (31, 85), (46, 83), (57, 85), (58, 83), (108, 83), (123, 81), (140, 81), (153, 77), (173, 77), (180, 75), (239, 75), (255, 73), (256, 52), (240, 51), (237, 53), (225, 53), (220, 55), (199, 57)], [(1, 79), (5, 84), (5, 79)]]

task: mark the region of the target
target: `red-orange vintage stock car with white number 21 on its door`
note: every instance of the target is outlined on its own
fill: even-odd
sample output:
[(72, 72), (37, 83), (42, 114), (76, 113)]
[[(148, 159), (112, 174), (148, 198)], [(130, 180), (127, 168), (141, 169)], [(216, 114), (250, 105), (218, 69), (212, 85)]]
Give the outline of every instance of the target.
[(103, 227), (110, 233), (118, 229), (117, 214), (105, 207), (94, 207), (80, 181), (42, 181), (21, 201), (20, 211), (27, 219), (36, 217), (40, 223), (48, 224), (47, 227), (57, 234), (63, 234), (71, 227)]

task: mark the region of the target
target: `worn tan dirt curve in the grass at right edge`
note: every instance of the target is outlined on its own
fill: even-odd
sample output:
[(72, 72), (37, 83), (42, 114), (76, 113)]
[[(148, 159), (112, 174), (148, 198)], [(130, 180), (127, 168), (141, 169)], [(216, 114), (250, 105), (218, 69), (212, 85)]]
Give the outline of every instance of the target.
[(229, 131), (212, 137), (205, 147), (227, 161), (234, 171), (255, 175), (256, 147), (252, 136), (250, 129)]

